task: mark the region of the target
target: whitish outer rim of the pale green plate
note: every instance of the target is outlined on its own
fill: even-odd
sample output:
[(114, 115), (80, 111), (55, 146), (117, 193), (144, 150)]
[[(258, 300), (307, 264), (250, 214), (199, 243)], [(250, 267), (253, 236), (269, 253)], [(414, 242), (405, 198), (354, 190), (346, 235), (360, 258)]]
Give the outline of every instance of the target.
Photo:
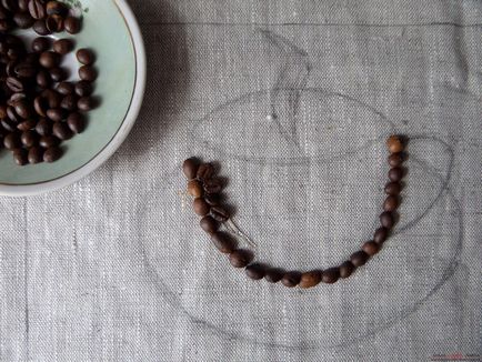
[(53, 180), (37, 182), (33, 184), (0, 184), (0, 195), (6, 197), (29, 197), (38, 195), (47, 192), (56, 191), (83, 179), (91, 172), (100, 168), (107, 160), (109, 160), (119, 147), (125, 141), (132, 127), (134, 125), (139, 112), (141, 110), (147, 78), (147, 59), (145, 48), (135, 16), (127, 3), (127, 0), (112, 0), (118, 7), (120, 14), (123, 17), (130, 36), (132, 38), (132, 46), (135, 56), (135, 83), (131, 98), (130, 107), (125, 113), (122, 124), (119, 127), (116, 134), (110, 142), (94, 155), (90, 161), (80, 167), (79, 169), (61, 175)]

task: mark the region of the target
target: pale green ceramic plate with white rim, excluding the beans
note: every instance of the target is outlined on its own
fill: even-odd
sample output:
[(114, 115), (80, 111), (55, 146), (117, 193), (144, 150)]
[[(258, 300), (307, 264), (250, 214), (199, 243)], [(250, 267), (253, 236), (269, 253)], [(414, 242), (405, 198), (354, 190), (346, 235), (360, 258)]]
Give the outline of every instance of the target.
[[(28, 195), (51, 191), (78, 181), (101, 165), (131, 130), (142, 102), (145, 54), (137, 21), (123, 0), (70, 0), (82, 14), (82, 31), (74, 36), (77, 49), (97, 53), (100, 105), (89, 112), (88, 128), (63, 142), (64, 155), (54, 163), (18, 167), (10, 152), (0, 152), (0, 193)], [(33, 38), (30, 32), (20, 33)], [(57, 34), (64, 38), (68, 33)], [(77, 77), (73, 53), (63, 64)], [(76, 79), (72, 77), (72, 79)]]

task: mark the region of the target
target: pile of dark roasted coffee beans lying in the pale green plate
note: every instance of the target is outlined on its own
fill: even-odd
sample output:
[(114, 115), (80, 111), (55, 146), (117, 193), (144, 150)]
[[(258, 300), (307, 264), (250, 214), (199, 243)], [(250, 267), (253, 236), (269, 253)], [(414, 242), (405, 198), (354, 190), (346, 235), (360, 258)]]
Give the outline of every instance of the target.
[[(31, 28), (41, 37), (28, 46), (12, 33), (18, 28)], [(80, 29), (80, 19), (62, 2), (0, 1), (0, 148), (10, 150), (19, 165), (58, 160), (61, 142), (86, 128), (84, 113), (94, 107), (94, 54), (78, 50), (80, 80), (67, 81), (62, 61), (74, 41), (51, 37)]]

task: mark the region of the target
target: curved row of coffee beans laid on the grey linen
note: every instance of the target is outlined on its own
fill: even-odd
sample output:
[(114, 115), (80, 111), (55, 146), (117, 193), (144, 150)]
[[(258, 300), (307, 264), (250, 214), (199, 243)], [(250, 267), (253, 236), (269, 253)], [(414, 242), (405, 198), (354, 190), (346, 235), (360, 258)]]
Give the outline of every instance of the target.
[(364, 265), (370, 258), (375, 255), (395, 223), (395, 212), (400, 204), (400, 192), (405, 160), (404, 141), (399, 135), (391, 135), (386, 140), (390, 152), (388, 163), (389, 182), (384, 191), (386, 199), (383, 202), (383, 212), (380, 214), (380, 228), (373, 234), (373, 239), (366, 241), (361, 250), (351, 254), (349, 260), (339, 267), (325, 270), (312, 270), (308, 272), (284, 271), (270, 268), (261, 263), (253, 263), (250, 251), (238, 249), (235, 240), (228, 233), (220, 232), (220, 223), (228, 221), (229, 213), (220, 205), (222, 197), (222, 182), (214, 175), (214, 168), (210, 163), (199, 163), (195, 159), (188, 159), (183, 163), (183, 172), (188, 178), (188, 193), (194, 198), (194, 212), (202, 217), (201, 228), (211, 237), (213, 244), (222, 252), (229, 254), (229, 261), (234, 268), (244, 268), (247, 275), (252, 280), (267, 280), (270, 283), (281, 282), (284, 286), (313, 288), (320, 283), (332, 284), (340, 279), (349, 278), (353, 272)]

